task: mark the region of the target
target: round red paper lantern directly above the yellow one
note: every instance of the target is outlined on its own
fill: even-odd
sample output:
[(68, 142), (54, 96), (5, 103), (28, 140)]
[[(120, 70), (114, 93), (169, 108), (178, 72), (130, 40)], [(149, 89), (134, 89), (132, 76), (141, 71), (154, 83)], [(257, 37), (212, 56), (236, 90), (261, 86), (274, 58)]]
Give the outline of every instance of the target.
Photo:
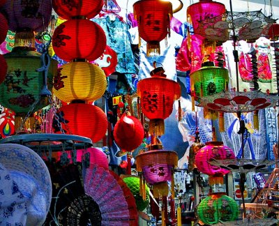
[(52, 47), (58, 57), (65, 61), (100, 57), (106, 47), (105, 31), (91, 20), (75, 19), (56, 27)]

